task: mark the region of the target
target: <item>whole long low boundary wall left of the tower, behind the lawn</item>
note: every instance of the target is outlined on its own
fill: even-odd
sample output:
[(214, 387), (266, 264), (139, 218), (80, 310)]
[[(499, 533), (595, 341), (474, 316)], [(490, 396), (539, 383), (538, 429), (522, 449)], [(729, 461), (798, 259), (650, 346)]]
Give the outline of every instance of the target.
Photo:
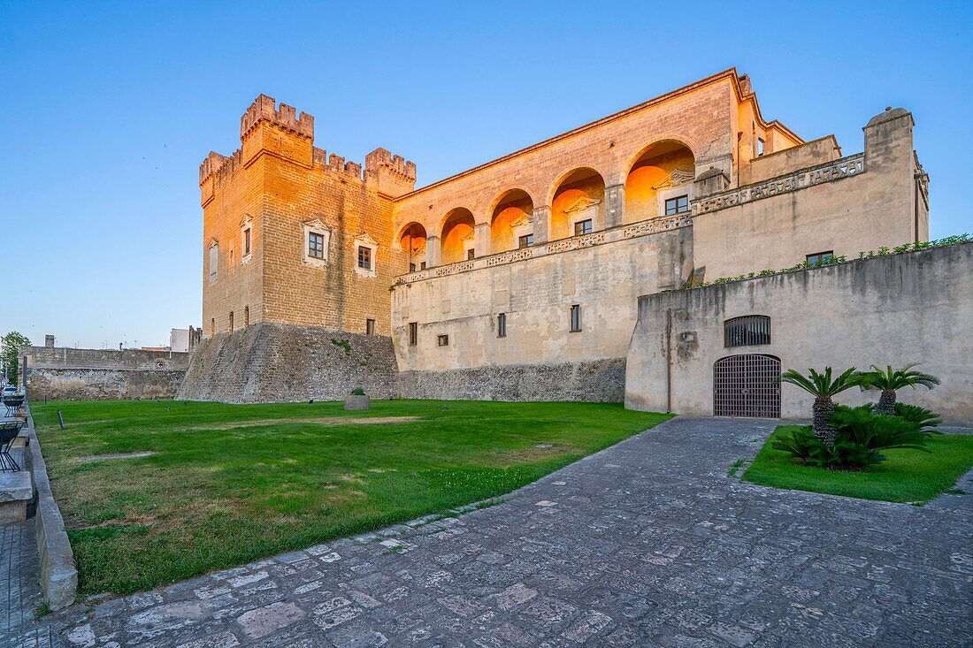
[(34, 401), (172, 398), (189, 353), (26, 346)]

